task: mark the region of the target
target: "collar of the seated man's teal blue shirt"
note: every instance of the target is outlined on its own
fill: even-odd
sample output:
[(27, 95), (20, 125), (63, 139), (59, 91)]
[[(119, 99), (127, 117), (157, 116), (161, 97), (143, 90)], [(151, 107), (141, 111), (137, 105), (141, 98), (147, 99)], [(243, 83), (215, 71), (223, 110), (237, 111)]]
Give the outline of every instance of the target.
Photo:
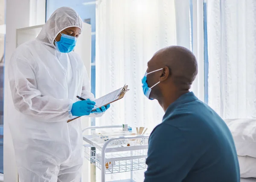
[(180, 96), (175, 102), (173, 102), (166, 110), (166, 114), (163, 116), (163, 119), (165, 119), (166, 116), (168, 116), (170, 113), (172, 113), (177, 106), (185, 104), (187, 102), (191, 102), (194, 100), (198, 100), (197, 97), (195, 97), (195, 94), (193, 92), (188, 92), (186, 94), (183, 94)]

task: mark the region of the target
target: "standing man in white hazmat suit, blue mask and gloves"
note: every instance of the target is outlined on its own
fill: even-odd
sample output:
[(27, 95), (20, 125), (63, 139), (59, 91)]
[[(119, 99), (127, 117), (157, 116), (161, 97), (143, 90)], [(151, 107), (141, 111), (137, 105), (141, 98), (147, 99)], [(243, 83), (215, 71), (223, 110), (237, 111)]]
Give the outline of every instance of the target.
[[(82, 20), (57, 9), (38, 37), (20, 45), (9, 65), (17, 119), (9, 122), (20, 182), (79, 182), (82, 131), (76, 116), (100, 117), (84, 63), (73, 51)], [(76, 96), (83, 97), (78, 101)]]

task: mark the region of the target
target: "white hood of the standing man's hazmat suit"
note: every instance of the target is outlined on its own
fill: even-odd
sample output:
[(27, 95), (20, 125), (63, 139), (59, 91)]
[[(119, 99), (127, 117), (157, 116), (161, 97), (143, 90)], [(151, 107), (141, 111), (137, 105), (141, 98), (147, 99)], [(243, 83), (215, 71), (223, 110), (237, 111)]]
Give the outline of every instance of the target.
[(78, 27), (82, 30), (83, 23), (79, 14), (69, 7), (56, 9), (38, 34), (37, 40), (55, 47), (53, 43), (57, 35), (69, 27)]

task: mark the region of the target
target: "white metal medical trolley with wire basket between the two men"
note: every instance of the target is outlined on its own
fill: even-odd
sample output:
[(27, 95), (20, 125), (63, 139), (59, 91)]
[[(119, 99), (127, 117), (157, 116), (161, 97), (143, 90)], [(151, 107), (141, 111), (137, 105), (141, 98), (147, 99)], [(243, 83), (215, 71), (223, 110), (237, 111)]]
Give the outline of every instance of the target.
[[(91, 126), (83, 130), (90, 130), (91, 133), (95, 129), (103, 128), (122, 128), (123, 125), (113, 126)], [(84, 135), (83, 139), (87, 143), (84, 145), (84, 156), (88, 159), (96, 168), (101, 170), (101, 181), (105, 182), (106, 174), (122, 173), (128, 171), (142, 170), (147, 167), (145, 159), (148, 152), (148, 140), (149, 135), (127, 135), (112, 136), (106, 139), (105, 142), (95, 142), (93, 138), (95, 135)], [(132, 145), (118, 144), (113, 142), (118, 141), (131, 141)], [(120, 180), (118, 182), (134, 182), (132, 179)]]

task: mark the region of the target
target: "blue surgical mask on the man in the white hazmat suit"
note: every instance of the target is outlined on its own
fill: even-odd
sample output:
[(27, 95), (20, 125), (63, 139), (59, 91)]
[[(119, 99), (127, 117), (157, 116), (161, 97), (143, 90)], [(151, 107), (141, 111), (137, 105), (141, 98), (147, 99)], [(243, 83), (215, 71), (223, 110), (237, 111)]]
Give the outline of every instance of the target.
[(55, 41), (55, 46), (58, 51), (62, 53), (69, 53), (73, 51), (74, 47), (76, 46), (76, 41), (76, 37), (61, 34), (61, 40), (58, 42)]

